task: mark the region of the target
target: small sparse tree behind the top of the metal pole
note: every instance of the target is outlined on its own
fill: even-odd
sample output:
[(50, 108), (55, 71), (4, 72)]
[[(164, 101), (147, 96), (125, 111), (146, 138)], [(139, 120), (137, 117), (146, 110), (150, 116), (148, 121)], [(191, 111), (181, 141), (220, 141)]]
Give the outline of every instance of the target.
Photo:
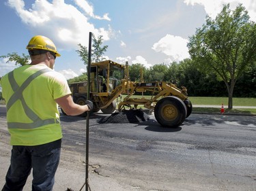
[[(104, 52), (106, 52), (106, 49), (109, 46), (102, 46), (103, 44), (103, 39), (102, 35), (98, 36), (98, 39), (96, 39), (95, 35), (92, 35), (92, 47), (91, 47), (91, 62), (96, 63), (104, 60)], [(85, 65), (88, 65), (88, 48), (86, 46), (83, 46), (81, 44), (78, 44), (79, 50), (76, 50), (76, 52), (79, 54), (81, 57), (81, 60)]]

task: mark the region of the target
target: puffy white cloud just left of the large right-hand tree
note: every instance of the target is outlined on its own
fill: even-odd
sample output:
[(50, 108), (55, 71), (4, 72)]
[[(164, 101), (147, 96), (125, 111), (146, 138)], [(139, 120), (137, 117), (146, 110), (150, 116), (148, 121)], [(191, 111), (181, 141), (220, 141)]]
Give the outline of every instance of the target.
[(166, 54), (172, 61), (180, 61), (189, 58), (187, 43), (187, 39), (167, 34), (155, 43), (152, 49)]

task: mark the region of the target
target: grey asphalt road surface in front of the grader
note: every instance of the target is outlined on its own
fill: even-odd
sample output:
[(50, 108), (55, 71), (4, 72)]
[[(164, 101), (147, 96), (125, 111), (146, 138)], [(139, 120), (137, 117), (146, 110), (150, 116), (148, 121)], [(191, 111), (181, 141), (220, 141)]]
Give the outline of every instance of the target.
[[(153, 115), (137, 124), (100, 124), (106, 116), (89, 120), (91, 191), (256, 190), (255, 116), (191, 114), (179, 128), (162, 128)], [(63, 153), (73, 156), (64, 154), (61, 168), (83, 174), (72, 165), (84, 161), (86, 120), (61, 116), (61, 124)]]

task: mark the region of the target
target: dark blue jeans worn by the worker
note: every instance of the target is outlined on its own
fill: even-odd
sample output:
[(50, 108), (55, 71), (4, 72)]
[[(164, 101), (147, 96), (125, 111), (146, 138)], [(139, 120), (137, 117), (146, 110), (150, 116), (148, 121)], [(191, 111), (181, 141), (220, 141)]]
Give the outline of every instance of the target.
[(53, 190), (61, 139), (36, 146), (12, 146), (11, 164), (2, 191), (21, 191), (33, 169), (32, 191)]

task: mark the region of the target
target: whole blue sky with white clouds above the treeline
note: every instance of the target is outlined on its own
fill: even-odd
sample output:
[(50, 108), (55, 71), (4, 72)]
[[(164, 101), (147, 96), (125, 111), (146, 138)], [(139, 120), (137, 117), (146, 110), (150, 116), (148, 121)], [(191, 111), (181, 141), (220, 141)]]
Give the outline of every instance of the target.
[[(256, 0), (1, 0), (0, 56), (28, 55), (31, 37), (44, 35), (61, 54), (55, 71), (68, 80), (86, 71), (76, 50), (89, 46), (91, 32), (102, 35), (106, 59), (169, 65), (189, 58), (189, 37), (227, 3), (231, 10), (242, 3), (256, 22)], [(0, 58), (0, 77), (18, 67), (7, 60)]]

